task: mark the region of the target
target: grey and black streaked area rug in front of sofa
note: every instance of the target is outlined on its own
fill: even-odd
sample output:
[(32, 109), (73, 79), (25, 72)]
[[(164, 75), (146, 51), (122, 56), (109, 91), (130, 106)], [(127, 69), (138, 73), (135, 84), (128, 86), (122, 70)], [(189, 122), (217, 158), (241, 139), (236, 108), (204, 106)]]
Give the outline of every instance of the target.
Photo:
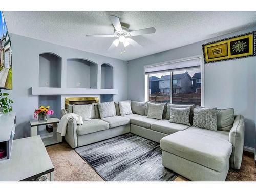
[(159, 143), (125, 134), (75, 149), (106, 181), (174, 181)]

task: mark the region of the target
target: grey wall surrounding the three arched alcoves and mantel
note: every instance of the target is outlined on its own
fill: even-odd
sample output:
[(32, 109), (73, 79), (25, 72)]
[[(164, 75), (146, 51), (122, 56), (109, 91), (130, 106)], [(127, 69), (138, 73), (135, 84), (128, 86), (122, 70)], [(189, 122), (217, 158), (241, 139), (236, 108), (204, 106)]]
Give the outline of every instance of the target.
[[(61, 86), (67, 87), (67, 59), (88, 59), (97, 64), (98, 74), (100, 65), (111, 63), (114, 67), (114, 89), (118, 94), (114, 95), (115, 101), (127, 99), (127, 65), (124, 61), (88, 53), (68, 47), (63, 47), (49, 42), (40, 41), (24, 36), (10, 34), (12, 41), (12, 65), (13, 65), (13, 90), (3, 90), (10, 93), (14, 100), (13, 110), (17, 112), (15, 138), (30, 136), (29, 121), (33, 119), (33, 112), (39, 105), (38, 95), (31, 95), (31, 87), (38, 87), (39, 54), (54, 53), (61, 57)], [(75, 76), (75, 74), (72, 74)], [(100, 88), (100, 75), (97, 76), (97, 87)], [(79, 95), (82, 97), (82, 95)], [(63, 98), (71, 95), (61, 95)]]

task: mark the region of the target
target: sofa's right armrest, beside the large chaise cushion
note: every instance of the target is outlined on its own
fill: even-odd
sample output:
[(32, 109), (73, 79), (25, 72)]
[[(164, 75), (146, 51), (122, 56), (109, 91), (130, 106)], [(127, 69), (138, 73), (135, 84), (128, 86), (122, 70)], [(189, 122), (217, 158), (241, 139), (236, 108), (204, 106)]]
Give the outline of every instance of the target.
[(229, 142), (233, 145), (230, 167), (240, 169), (244, 150), (244, 117), (237, 115), (229, 132)]

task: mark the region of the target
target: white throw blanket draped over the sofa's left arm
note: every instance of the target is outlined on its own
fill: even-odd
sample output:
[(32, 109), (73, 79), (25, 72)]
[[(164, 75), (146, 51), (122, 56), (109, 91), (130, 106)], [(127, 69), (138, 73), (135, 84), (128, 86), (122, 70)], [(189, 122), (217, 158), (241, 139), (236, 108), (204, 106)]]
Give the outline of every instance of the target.
[(61, 136), (66, 135), (67, 126), (70, 119), (74, 119), (76, 121), (76, 124), (78, 125), (83, 124), (82, 117), (77, 114), (68, 113), (66, 115), (63, 115), (63, 117), (59, 121), (58, 128), (57, 128), (57, 132), (60, 133)]

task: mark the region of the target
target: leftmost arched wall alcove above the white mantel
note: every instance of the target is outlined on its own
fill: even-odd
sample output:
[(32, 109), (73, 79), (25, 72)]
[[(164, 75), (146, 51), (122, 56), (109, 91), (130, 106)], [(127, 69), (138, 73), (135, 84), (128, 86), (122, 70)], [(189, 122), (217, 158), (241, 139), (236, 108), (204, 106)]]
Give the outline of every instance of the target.
[(61, 57), (54, 53), (39, 55), (39, 87), (61, 88)]

